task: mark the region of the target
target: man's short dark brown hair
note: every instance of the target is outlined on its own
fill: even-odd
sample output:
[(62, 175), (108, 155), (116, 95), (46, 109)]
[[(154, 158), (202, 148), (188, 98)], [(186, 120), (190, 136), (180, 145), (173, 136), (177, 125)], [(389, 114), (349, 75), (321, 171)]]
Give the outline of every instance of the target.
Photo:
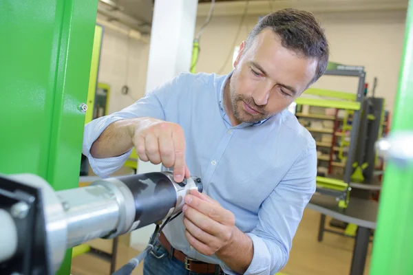
[(266, 28), (271, 28), (280, 37), (282, 46), (288, 50), (301, 56), (317, 58), (317, 71), (311, 83), (324, 74), (328, 65), (328, 41), (313, 14), (288, 8), (266, 15), (248, 35), (245, 50), (252, 45), (255, 36)]

